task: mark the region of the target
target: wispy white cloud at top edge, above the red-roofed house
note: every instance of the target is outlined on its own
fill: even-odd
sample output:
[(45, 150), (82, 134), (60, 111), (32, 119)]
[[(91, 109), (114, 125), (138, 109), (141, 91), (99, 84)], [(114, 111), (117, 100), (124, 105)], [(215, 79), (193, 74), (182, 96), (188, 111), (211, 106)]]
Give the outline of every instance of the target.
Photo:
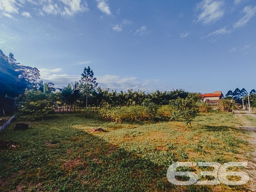
[(224, 3), (222, 1), (203, 0), (197, 6), (202, 10), (202, 13), (198, 15), (198, 21), (202, 21), (204, 24), (215, 22), (224, 16)]

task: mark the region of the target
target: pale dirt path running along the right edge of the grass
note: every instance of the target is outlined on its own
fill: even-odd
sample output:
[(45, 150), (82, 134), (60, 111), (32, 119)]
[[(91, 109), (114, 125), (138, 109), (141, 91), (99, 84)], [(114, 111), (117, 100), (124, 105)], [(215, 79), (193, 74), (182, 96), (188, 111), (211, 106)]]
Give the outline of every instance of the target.
[(248, 142), (254, 148), (254, 151), (248, 155), (251, 155), (251, 160), (248, 162), (248, 172), (250, 174), (250, 191), (256, 192), (256, 125), (248, 120), (246, 117), (255, 118), (256, 114), (249, 111), (235, 111), (236, 120), (238, 121), (237, 128), (250, 132)]

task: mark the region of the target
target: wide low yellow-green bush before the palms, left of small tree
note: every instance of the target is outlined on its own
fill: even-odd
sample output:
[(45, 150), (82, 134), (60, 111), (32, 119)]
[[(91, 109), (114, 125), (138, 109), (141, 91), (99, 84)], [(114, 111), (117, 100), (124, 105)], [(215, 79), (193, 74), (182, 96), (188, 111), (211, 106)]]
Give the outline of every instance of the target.
[(143, 121), (148, 120), (146, 108), (143, 106), (115, 107), (100, 110), (100, 116), (106, 121)]

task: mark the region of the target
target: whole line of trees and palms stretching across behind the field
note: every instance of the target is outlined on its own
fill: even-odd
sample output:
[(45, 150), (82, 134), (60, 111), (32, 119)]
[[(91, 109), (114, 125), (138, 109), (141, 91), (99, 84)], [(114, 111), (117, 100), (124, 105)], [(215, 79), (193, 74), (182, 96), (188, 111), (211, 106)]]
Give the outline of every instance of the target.
[[(198, 109), (194, 106), (200, 94), (188, 97), (189, 93), (176, 89), (172, 91), (155, 91), (145, 93), (142, 90), (128, 89), (117, 92), (116, 90), (102, 89), (98, 86), (90, 66), (84, 68), (79, 82), (71, 82), (62, 88), (55, 88), (52, 82), (37, 81), (40, 73), (37, 68), (23, 66), (16, 62), (12, 53), (6, 56), (0, 50), (0, 109), (15, 109), (15, 101), (19, 113), (22, 115), (42, 116), (54, 113), (54, 109), (66, 111), (82, 111), (86, 108), (100, 110), (102, 108), (143, 106), (147, 118), (156, 116), (158, 106), (172, 105), (174, 118), (191, 119)], [(248, 92), (242, 88), (228, 91), (227, 99), (237, 103), (246, 102)], [(16, 99), (15, 99), (16, 98)], [(256, 91), (250, 91), (249, 96), (252, 106), (256, 106)], [(247, 98), (248, 100), (248, 98)], [(178, 109), (183, 109), (179, 112)], [(0, 110), (0, 112), (1, 112)], [(6, 110), (7, 111), (7, 110)], [(191, 116), (191, 114), (193, 114)], [(182, 116), (183, 115), (183, 116)], [(188, 122), (188, 121), (186, 121)]]

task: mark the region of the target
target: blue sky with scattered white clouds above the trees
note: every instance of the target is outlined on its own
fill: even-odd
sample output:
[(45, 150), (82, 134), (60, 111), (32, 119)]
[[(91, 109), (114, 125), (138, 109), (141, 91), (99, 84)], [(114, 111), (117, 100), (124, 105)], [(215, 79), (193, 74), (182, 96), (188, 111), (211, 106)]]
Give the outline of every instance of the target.
[(256, 89), (255, 0), (0, 0), (0, 49), (57, 87)]

